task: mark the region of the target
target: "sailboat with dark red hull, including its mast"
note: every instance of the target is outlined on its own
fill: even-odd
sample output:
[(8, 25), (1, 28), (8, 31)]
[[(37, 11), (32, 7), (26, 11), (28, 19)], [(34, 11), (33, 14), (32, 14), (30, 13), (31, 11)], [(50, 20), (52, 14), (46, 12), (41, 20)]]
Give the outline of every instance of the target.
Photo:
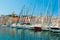
[[(34, 13), (35, 8), (36, 8), (36, 1), (34, 4), (32, 13)], [(31, 15), (31, 17), (33, 17), (33, 16)], [(40, 23), (36, 23), (38, 21), (37, 18), (38, 18), (38, 16), (37, 17), (35, 16), (34, 21), (32, 21), (32, 25), (30, 27), (30, 28), (34, 29), (35, 32), (41, 31), (41, 26), (42, 26)]]

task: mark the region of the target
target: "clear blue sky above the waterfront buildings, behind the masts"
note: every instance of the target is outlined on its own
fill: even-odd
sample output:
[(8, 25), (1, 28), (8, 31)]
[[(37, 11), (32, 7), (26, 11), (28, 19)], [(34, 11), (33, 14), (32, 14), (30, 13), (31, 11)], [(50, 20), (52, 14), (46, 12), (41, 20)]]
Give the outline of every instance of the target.
[[(46, 16), (46, 10), (50, 15), (51, 10), (53, 16), (58, 15), (58, 0), (0, 0), (0, 15), (8, 15), (13, 11), (19, 15), (22, 11), (22, 15)], [(52, 3), (52, 6), (51, 6)], [(52, 8), (52, 9), (51, 9)]]

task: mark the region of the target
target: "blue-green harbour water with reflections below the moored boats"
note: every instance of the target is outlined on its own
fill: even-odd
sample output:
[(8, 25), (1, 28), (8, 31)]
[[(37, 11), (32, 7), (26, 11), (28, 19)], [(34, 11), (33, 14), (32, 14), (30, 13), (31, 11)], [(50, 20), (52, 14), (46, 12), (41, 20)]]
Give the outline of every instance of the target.
[(0, 40), (60, 40), (60, 33), (27, 29), (0, 28)]

